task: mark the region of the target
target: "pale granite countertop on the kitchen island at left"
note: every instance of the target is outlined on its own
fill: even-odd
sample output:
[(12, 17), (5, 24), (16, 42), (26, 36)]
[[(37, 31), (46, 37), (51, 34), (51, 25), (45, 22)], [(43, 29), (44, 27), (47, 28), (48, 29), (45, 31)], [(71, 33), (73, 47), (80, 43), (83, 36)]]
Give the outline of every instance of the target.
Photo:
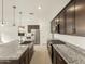
[(18, 40), (0, 44), (0, 61), (18, 60), (30, 46), (32, 44), (19, 44)]

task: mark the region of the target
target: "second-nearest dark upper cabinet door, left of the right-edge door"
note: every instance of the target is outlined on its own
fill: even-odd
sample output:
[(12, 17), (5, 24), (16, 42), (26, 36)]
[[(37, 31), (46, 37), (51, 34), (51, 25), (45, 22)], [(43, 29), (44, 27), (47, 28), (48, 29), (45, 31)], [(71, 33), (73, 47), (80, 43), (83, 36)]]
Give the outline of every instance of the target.
[(75, 34), (75, 1), (71, 2), (66, 8), (66, 26), (67, 26), (67, 34), (73, 35)]

